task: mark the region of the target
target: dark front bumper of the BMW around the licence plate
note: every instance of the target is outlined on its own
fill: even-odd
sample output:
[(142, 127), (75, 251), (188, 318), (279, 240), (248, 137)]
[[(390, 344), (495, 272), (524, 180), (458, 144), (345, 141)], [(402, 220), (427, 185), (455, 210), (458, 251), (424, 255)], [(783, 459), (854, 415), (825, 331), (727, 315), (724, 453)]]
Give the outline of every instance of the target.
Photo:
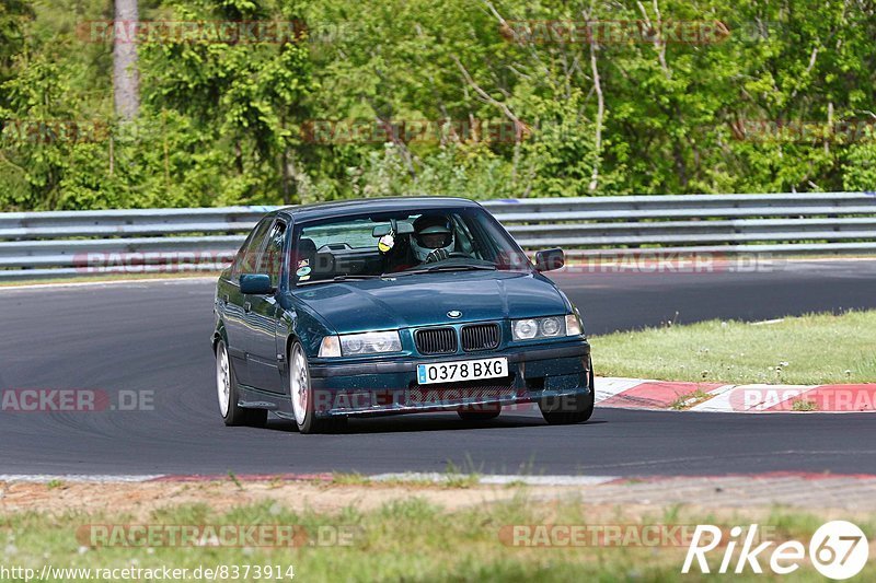
[[(508, 359), (505, 378), (454, 385), (418, 385), (418, 364), (473, 358)], [(590, 345), (581, 339), (508, 347), (485, 353), (403, 358), (365, 363), (310, 364), (316, 415), (387, 415), (491, 408), (540, 403), (552, 410), (578, 408), (591, 398)]]

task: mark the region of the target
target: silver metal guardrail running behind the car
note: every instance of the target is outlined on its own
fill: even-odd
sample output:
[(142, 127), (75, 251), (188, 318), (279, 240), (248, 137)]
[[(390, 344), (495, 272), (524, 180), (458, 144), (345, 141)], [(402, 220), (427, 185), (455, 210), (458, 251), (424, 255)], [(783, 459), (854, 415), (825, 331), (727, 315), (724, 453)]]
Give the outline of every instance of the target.
[[(876, 195), (488, 200), (525, 248), (570, 256), (873, 253)], [(0, 280), (216, 270), (274, 207), (0, 213)]]

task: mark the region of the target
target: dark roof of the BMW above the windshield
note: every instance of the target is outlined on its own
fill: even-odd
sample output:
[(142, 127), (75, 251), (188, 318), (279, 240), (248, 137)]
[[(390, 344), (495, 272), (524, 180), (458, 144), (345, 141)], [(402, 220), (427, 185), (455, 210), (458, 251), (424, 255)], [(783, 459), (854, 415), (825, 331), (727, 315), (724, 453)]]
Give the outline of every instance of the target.
[(286, 207), (278, 209), (277, 212), (292, 217), (296, 222), (302, 222), (359, 214), (361, 212), (393, 212), (404, 210), (418, 212), (429, 209), (471, 207), (480, 207), (480, 205), (468, 198), (457, 197), (384, 197)]

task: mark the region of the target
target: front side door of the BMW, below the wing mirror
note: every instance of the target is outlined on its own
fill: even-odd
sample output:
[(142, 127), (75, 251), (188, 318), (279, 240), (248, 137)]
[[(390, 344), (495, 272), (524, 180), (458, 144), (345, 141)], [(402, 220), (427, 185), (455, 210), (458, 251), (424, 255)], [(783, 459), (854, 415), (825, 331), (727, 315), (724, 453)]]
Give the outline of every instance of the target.
[[(279, 289), (285, 272), (284, 261), (289, 234), (286, 220), (278, 218), (265, 238), (256, 272), (270, 276), (274, 289)], [(250, 311), (245, 314), (249, 346), (247, 364), (252, 386), (272, 393), (284, 393), (285, 385), (279, 362), (284, 355), (277, 353), (277, 319), (280, 307), (277, 295), (247, 295)]]

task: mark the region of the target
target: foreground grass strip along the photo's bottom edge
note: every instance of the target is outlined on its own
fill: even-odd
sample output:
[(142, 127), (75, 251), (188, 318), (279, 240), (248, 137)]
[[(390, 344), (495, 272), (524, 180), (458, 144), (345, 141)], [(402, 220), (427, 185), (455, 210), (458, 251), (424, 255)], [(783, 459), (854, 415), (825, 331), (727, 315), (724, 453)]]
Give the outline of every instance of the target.
[[(687, 543), (648, 546), (615, 541), (610, 546), (515, 545), (514, 526), (540, 525), (696, 525), (715, 524), (726, 532), (734, 525), (769, 526), (768, 539), (800, 540), (808, 544), (812, 533), (828, 518), (788, 509), (746, 509), (716, 514), (670, 505), (634, 510), (587, 505), (579, 500), (538, 502), (521, 491), (512, 501), (475, 505), (447, 512), (419, 498), (387, 503), (372, 511), (345, 508), (334, 513), (295, 512), (278, 502), (263, 502), (219, 512), (207, 504), (185, 504), (155, 510), (148, 523), (132, 522), (130, 515), (107, 513), (64, 513), (61, 515), (22, 512), (0, 515), (0, 564), (42, 570), (55, 568), (195, 570), (198, 567), (272, 565), (304, 581), (676, 581), (680, 574)], [(830, 516), (830, 520), (842, 516)], [(849, 518), (849, 516), (846, 516)], [(866, 533), (876, 527), (876, 516), (851, 517)], [(115, 544), (92, 545), (94, 530), (152, 525), (295, 525), (307, 537), (298, 546), (152, 546)], [(657, 526), (659, 528), (659, 526)], [(83, 535), (82, 533), (87, 533)], [(529, 530), (533, 533), (534, 530)], [(337, 536), (337, 533), (343, 533)], [(102, 535), (103, 536), (103, 535)], [(85, 544), (83, 544), (83, 537)], [(106, 541), (107, 538), (97, 538)], [(108, 540), (113, 540), (111, 537)], [(534, 535), (518, 541), (537, 540)], [(561, 539), (557, 538), (557, 541)], [(642, 540), (645, 540), (644, 538)], [(775, 547), (773, 547), (775, 548)], [(716, 570), (724, 555), (719, 547), (708, 555)], [(738, 555), (738, 548), (736, 550)], [(769, 552), (762, 567), (769, 573)], [(735, 562), (734, 562), (735, 564)], [(707, 575), (689, 579), (704, 580)], [(742, 581), (777, 581), (747, 570), (733, 575)], [(873, 580), (876, 564), (868, 564), (861, 580)], [(53, 580), (53, 579), (49, 579)], [(238, 581), (255, 581), (254, 575)], [(289, 581), (272, 576), (270, 580)], [(807, 561), (795, 573), (795, 581), (820, 581)], [(68, 575), (66, 581), (77, 581)]]

